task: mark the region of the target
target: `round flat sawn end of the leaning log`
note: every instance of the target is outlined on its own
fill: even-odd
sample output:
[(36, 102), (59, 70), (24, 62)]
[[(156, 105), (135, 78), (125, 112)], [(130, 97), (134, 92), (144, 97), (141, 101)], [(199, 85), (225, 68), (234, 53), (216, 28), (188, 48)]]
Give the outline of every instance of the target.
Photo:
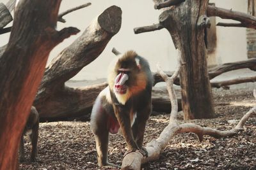
[(105, 31), (116, 34), (122, 24), (122, 10), (118, 6), (110, 6), (98, 17), (100, 27)]

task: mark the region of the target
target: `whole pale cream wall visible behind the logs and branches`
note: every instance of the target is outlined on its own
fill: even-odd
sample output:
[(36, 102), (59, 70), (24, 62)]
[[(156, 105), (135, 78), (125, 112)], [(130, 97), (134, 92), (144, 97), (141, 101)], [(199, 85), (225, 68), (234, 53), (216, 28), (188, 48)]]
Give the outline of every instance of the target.
[[(6, 3), (8, 0), (0, 0)], [(134, 34), (133, 28), (144, 25), (152, 25), (158, 22), (158, 17), (161, 11), (154, 10), (153, 1), (147, 0), (63, 0), (61, 3), (61, 11), (65, 11), (74, 6), (91, 2), (92, 5), (84, 9), (74, 11), (66, 15), (67, 22), (62, 24), (58, 22), (57, 29), (63, 27), (77, 27), (84, 31), (90, 24), (91, 20), (99, 15), (109, 6), (115, 4), (122, 8), (122, 27), (118, 34), (116, 34), (111, 41), (109, 41), (106, 49), (94, 60), (90, 65), (78, 73), (72, 80), (94, 80), (97, 78), (106, 77), (106, 69), (109, 62), (115, 57), (111, 53), (111, 49), (115, 47), (120, 52), (126, 50), (136, 50), (138, 54), (148, 59), (152, 71), (156, 71), (156, 63), (160, 62), (164, 70), (172, 71), (177, 64), (175, 48), (172, 43), (170, 34), (162, 29), (161, 31), (147, 32), (142, 34)], [(216, 3), (216, 6), (222, 8), (232, 8), (232, 10), (247, 11), (247, 1), (241, 0), (215, 0), (211, 1)], [(219, 19), (217, 19), (218, 22)], [(53, 57), (58, 55), (65, 46), (70, 45), (81, 35), (81, 32), (76, 36), (72, 36), (52, 50), (49, 57), (49, 62)], [(216, 60), (218, 64), (225, 62), (232, 62), (235, 60), (246, 59), (246, 37), (244, 28), (231, 28), (231, 27), (217, 27), (217, 48)], [(0, 35), (0, 46), (8, 42), (8, 34)], [(49, 63), (48, 62), (48, 63)]]

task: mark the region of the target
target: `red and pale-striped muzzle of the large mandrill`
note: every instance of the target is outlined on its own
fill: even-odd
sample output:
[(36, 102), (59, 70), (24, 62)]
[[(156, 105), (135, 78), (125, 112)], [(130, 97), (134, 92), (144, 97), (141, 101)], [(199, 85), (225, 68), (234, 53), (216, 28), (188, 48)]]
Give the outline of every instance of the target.
[(127, 81), (129, 76), (125, 73), (119, 73), (115, 79), (115, 92), (118, 94), (125, 94), (127, 90), (127, 85), (125, 85), (125, 81)]

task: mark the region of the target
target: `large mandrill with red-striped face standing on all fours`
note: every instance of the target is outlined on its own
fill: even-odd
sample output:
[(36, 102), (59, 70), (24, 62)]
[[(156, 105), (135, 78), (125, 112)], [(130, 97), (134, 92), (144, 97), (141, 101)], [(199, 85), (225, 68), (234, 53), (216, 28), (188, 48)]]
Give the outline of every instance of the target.
[(121, 128), (127, 152), (142, 147), (145, 125), (151, 113), (153, 77), (147, 60), (128, 51), (116, 59), (108, 71), (108, 87), (100, 92), (93, 105), (90, 126), (95, 136), (99, 166), (115, 166), (108, 162), (109, 132)]

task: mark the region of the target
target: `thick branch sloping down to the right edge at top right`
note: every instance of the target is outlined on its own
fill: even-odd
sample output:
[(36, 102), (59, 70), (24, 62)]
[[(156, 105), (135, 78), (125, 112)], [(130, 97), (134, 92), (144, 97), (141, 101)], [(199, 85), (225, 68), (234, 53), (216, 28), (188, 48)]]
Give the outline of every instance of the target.
[(244, 25), (244, 27), (256, 29), (256, 17), (239, 11), (226, 10), (209, 5), (207, 8), (207, 16), (216, 16), (223, 19), (237, 20), (241, 22), (241, 25)]

